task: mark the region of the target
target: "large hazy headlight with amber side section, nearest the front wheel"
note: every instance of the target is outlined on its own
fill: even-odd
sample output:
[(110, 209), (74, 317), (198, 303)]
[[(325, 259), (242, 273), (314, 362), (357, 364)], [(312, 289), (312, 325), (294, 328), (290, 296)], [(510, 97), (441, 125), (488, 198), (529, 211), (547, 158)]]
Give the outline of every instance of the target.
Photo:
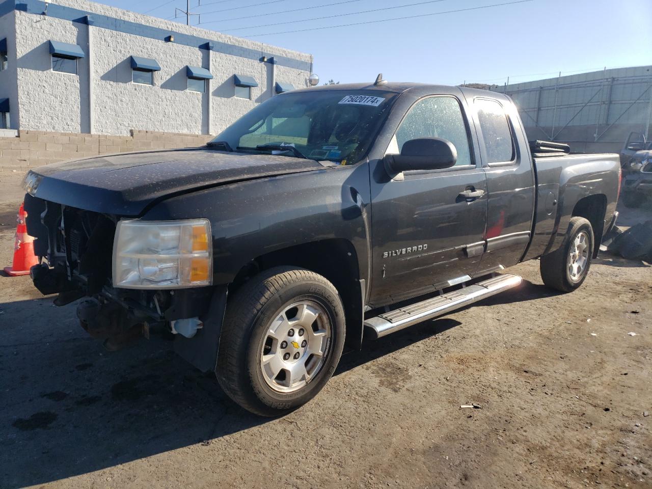
[(113, 286), (180, 289), (211, 285), (213, 250), (207, 219), (121, 220), (113, 242)]

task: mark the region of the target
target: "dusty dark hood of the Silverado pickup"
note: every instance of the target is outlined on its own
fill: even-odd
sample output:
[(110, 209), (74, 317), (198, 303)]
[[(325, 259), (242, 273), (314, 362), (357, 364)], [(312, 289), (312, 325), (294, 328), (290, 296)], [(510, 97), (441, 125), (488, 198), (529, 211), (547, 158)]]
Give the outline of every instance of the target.
[(209, 186), (324, 170), (314, 160), (193, 148), (103, 155), (30, 170), (32, 196), (98, 213), (138, 216), (156, 200)]

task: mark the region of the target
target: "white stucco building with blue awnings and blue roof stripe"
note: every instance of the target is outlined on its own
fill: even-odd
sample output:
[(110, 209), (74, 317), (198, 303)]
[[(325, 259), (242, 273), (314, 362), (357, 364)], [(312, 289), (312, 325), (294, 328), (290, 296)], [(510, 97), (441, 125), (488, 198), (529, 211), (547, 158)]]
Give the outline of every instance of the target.
[[(17, 130), (14, 137), (217, 134), (256, 103), (306, 87), (312, 71), (306, 53), (83, 0), (55, 1), (0, 0), (0, 129)], [(2, 131), (0, 151), (1, 136), (11, 135)], [(7, 166), (21, 153), (4, 147), (0, 164)]]

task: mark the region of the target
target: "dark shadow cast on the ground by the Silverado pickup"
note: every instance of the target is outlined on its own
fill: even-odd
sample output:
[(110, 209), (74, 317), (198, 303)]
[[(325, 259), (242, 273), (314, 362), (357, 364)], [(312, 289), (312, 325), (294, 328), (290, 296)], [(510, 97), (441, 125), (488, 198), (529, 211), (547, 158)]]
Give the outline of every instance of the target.
[[(153, 338), (107, 353), (52, 298), (0, 303), (0, 486), (91, 473), (248, 430), (271, 419), (239, 408), (212, 373)], [(426, 321), (365, 342), (336, 374), (458, 325)], [(309, 409), (309, 408), (307, 408)]]

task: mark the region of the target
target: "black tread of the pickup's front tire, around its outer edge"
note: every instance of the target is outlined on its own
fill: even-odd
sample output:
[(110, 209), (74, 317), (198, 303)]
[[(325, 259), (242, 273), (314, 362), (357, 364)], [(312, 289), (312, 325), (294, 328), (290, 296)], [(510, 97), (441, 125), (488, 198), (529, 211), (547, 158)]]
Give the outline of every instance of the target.
[[(252, 318), (250, 320), (253, 321), (267, 301), (272, 299), (282, 288), (293, 284), (297, 280), (319, 282), (337, 293), (333, 284), (317, 273), (297, 267), (273, 267), (252, 278), (250, 282), (235, 293), (224, 317), (217, 357), (216, 377), (222, 389), (233, 401), (259, 415), (269, 416), (269, 413), (261, 411), (256, 403), (244, 396), (237, 379), (238, 364), (242, 361), (241, 355), (243, 351), (246, 351), (247, 345), (245, 343), (248, 342), (249, 338), (246, 335), (237, 334), (237, 329), (230, 327), (230, 324), (236, 312), (243, 310), (251, 312)], [(222, 348), (225, 344), (228, 344), (229, 348)], [(220, 373), (227, 375), (220, 375)]]

